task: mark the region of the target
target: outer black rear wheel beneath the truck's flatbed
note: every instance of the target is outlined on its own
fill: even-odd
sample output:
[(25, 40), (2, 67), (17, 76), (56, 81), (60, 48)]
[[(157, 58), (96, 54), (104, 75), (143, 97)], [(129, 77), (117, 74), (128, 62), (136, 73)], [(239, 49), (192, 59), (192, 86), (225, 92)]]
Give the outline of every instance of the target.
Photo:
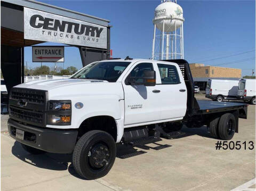
[(218, 130), (221, 139), (230, 140), (233, 138), (236, 130), (235, 116), (231, 113), (221, 115)]

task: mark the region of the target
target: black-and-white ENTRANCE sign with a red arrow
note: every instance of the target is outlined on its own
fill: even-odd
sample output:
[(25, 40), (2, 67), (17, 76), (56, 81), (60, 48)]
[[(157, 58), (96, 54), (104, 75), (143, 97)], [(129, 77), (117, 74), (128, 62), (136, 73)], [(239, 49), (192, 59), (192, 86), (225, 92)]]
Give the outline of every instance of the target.
[(33, 46), (33, 62), (64, 62), (63, 46)]

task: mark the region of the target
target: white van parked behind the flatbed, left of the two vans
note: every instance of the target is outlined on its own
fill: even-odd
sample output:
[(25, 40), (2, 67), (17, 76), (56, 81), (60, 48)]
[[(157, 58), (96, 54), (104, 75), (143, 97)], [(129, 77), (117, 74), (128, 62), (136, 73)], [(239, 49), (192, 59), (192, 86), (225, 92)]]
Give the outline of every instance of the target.
[(205, 97), (222, 102), (223, 99), (237, 99), (239, 80), (209, 79), (205, 90)]

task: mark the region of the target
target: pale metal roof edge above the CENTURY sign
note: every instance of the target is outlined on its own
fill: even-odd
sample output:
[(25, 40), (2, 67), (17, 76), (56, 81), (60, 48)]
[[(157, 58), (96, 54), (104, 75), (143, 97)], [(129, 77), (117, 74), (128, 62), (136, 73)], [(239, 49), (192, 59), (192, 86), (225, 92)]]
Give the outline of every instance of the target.
[(64, 9), (62, 7), (58, 7), (58, 6), (54, 6), (54, 5), (50, 5), (50, 4), (46, 4), (46, 3), (42, 3), (42, 2), (38, 2), (38, 1), (34, 1), (34, 0), (19, 0), (19, 1), (17, 1), (17, 0), (1, 0), (1, 1), (15, 4), (15, 5), (20, 5), (23, 7), (28, 7), (28, 8), (39, 10), (39, 11), (45, 11), (45, 12), (49, 12), (49, 13), (53, 13), (53, 14), (58, 14), (61, 16), (66, 16), (66, 17), (69, 17), (72, 19), (78, 19), (81, 21), (91, 22), (91, 23), (99, 24), (99, 25), (105, 26), (105, 27), (107, 27), (108, 23), (110, 22), (109, 20), (98, 18), (96, 16)]

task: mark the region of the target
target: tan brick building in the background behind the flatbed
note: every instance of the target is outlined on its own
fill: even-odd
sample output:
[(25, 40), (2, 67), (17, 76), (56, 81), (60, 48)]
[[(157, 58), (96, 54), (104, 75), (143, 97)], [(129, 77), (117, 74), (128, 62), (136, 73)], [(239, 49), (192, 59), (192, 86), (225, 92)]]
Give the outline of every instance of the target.
[(227, 79), (239, 80), (241, 78), (241, 69), (212, 67), (199, 63), (189, 64), (195, 86), (200, 90), (205, 90), (208, 79)]

